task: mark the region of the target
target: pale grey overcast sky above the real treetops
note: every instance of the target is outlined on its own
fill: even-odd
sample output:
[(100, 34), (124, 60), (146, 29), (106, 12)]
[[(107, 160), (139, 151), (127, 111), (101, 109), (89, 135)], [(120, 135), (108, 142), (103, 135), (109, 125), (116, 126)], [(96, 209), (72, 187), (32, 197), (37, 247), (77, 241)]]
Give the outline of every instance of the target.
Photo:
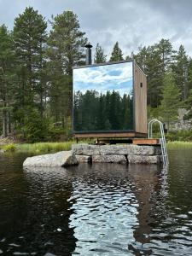
[(128, 55), (139, 45), (169, 38), (175, 49), (183, 44), (192, 55), (192, 0), (0, 0), (0, 23), (12, 29), (27, 6), (46, 20), (73, 10), (90, 43), (102, 44), (107, 54), (116, 41)]

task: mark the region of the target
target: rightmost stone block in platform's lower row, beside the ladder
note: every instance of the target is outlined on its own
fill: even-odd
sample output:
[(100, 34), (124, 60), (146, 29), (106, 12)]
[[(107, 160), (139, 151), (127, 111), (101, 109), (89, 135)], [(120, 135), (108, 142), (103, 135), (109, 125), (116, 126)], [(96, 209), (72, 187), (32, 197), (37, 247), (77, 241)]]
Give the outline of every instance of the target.
[(128, 155), (130, 164), (159, 164), (159, 155)]

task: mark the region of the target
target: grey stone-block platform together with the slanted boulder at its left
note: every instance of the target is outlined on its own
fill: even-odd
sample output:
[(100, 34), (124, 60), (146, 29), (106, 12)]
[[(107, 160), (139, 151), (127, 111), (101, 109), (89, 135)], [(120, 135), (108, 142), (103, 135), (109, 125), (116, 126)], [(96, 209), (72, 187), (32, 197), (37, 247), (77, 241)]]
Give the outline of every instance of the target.
[(74, 144), (71, 151), (28, 157), (23, 166), (74, 166), (79, 163), (160, 164), (155, 146)]

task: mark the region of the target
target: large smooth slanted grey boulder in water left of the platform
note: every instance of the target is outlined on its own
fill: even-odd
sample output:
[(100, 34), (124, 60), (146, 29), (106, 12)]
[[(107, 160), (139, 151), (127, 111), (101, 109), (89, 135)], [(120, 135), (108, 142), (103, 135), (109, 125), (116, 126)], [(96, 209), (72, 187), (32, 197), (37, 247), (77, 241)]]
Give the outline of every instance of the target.
[(73, 151), (61, 151), (55, 154), (44, 154), (27, 157), (23, 166), (74, 166), (79, 162)]

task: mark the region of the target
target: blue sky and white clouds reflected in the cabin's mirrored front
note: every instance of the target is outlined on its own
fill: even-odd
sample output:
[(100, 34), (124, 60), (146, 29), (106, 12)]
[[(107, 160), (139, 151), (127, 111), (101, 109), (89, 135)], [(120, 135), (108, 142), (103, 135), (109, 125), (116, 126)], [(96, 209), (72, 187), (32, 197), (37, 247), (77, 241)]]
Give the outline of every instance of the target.
[(73, 87), (82, 93), (86, 90), (102, 93), (118, 90), (121, 96), (131, 94), (132, 62), (74, 69)]

